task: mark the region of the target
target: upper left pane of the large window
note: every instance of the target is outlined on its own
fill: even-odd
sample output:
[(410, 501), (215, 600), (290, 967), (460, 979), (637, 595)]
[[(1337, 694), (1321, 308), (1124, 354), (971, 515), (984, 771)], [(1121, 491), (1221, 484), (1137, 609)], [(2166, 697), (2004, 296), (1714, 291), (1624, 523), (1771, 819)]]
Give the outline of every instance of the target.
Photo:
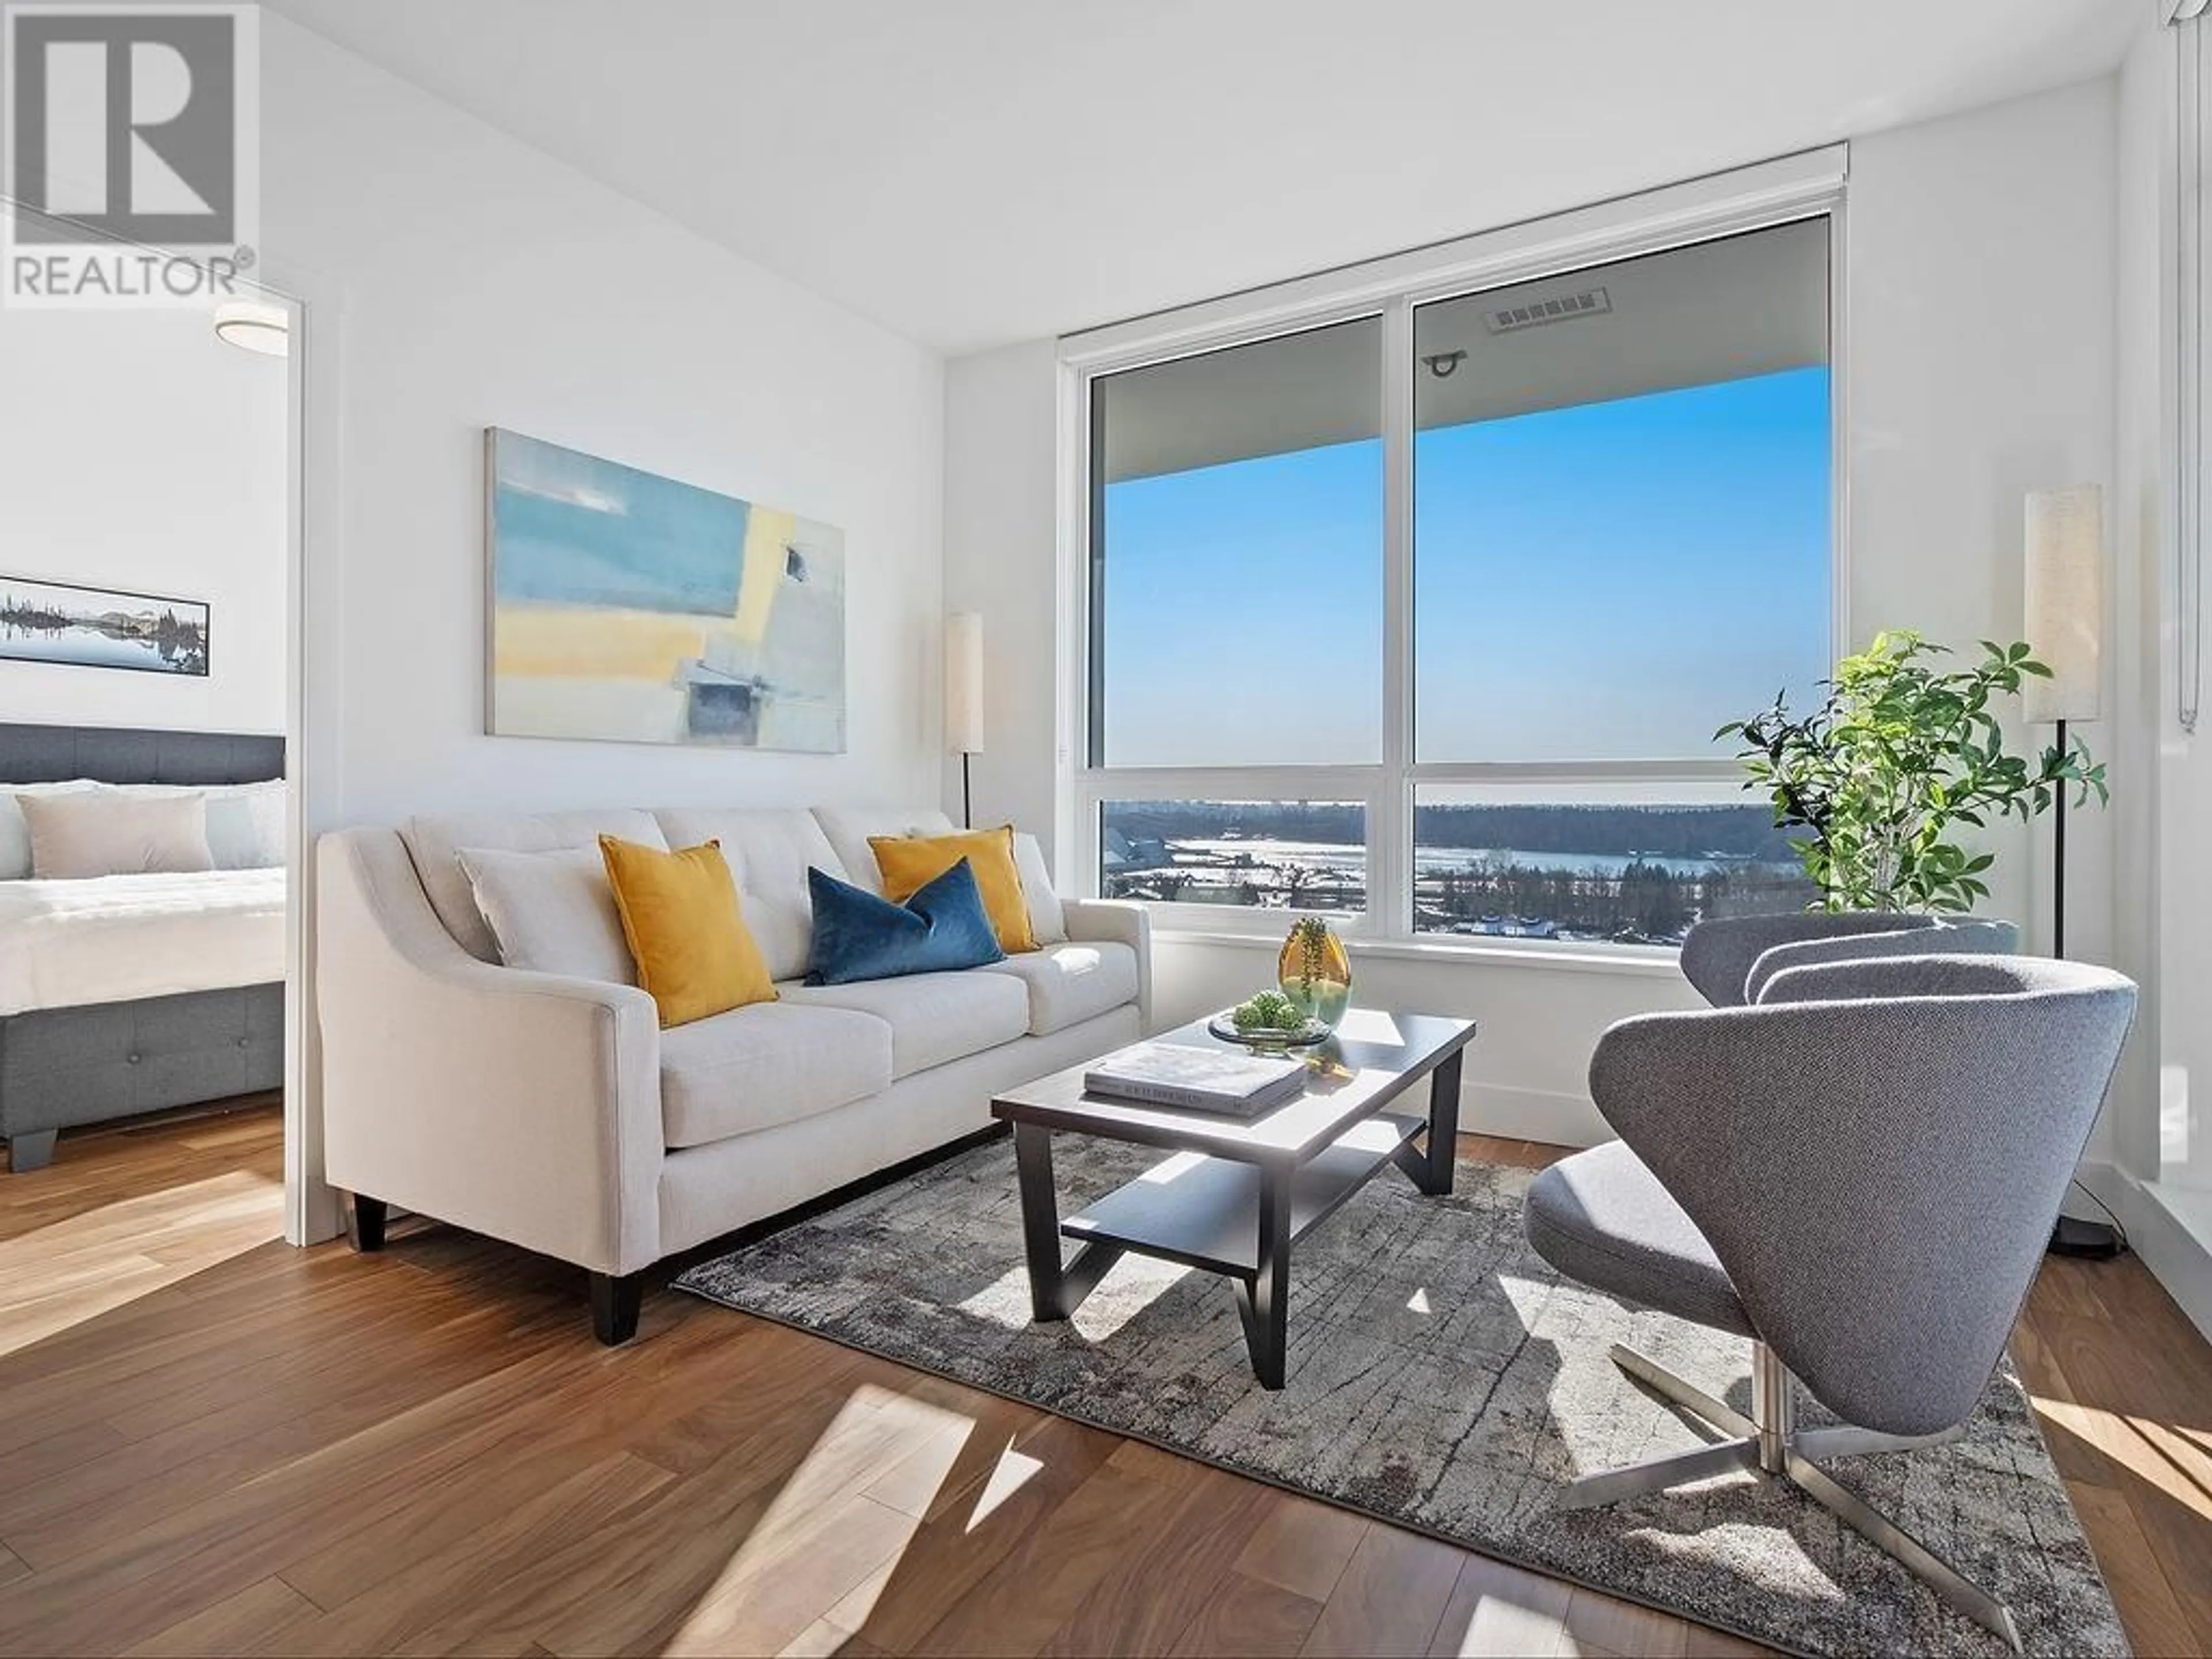
[(1371, 316), (1093, 380), (1097, 763), (1383, 759), (1380, 434)]

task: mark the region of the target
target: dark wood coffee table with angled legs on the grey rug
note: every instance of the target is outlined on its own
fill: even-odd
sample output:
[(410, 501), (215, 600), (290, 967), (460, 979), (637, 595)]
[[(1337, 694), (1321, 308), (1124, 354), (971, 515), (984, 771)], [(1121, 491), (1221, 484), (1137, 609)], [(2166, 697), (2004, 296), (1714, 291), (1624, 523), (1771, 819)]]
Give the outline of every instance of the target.
[[(1097, 1062), (1000, 1095), (991, 1115), (1013, 1126), (1031, 1312), (1068, 1318), (1128, 1250), (1179, 1261), (1230, 1281), (1252, 1371), (1263, 1387), (1283, 1387), (1292, 1245), (1385, 1166), (1422, 1192), (1451, 1192), (1460, 1057), (1473, 1037), (1471, 1020), (1354, 1009), (1334, 1037), (1303, 1051), (1314, 1071), (1305, 1093), (1252, 1119), (1091, 1095), (1084, 1073)], [(1225, 1046), (1203, 1020), (1155, 1042)], [(1389, 1110), (1422, 1077), (1427, 1115)], [(1197, 1157), (1168, 1159), (1062, 1221), (1055, 1133)], [(1077, 1241), (1068, 1259), (1062, 1237)]]

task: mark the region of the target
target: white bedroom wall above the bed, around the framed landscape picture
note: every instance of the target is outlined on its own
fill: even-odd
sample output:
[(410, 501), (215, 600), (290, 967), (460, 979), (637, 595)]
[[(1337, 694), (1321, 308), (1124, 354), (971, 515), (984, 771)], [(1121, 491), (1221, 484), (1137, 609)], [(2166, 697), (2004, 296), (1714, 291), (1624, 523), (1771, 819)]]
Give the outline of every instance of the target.
[(285, 365), (195, 312), (0, 310), (0, 575), (208, 604), (208, 675), (0, 661), (0, 719), (281, 732)]

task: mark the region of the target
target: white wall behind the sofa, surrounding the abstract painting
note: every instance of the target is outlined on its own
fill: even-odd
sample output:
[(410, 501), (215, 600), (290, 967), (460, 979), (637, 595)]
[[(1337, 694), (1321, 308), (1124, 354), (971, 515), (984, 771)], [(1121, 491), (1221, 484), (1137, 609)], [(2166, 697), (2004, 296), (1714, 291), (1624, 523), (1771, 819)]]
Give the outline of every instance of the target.
[[(307, 571), (314, 827), (453, 807), (936, 799), (931, 352), (276, 13), (263, 13), (261, 153), (265, 270), (307, 288), (325, 323), (336, 312), (341, 354), (338, 513)], [(841, 526), (849, 752), (484, 737), (489, 425)]]

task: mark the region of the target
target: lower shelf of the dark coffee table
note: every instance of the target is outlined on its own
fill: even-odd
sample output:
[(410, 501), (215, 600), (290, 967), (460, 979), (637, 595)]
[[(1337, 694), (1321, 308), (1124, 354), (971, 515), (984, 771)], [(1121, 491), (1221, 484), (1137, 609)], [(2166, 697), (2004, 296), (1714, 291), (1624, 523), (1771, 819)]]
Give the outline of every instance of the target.
[[(1429, 1128), (1427, 1117), (1378, 1113), (1301, 1164), (1290, 1179), (1290, 1243), (1298, 1243), (1327, 1221), (1425, 1128)], [(1263, 1186), (1256, 1164), (1177, 1152), (1082, 1214), (1062, 1221), (1060, 1232), (1077, 1243), (1104, 1243), (1203, 1272), (1252, 1279), (1261, 1265)]]

